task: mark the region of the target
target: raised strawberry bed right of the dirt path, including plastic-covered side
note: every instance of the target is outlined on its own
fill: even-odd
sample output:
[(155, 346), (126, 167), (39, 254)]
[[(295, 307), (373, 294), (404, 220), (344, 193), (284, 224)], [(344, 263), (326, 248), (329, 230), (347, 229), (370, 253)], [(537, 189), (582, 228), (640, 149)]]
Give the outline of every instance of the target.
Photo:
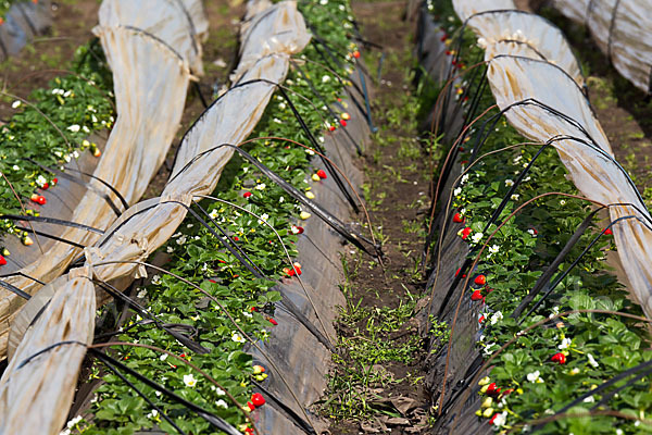
[[(441, 62), (464, 77), (457, 103), (468, 125), (494, 104), (491, 90), (505, 90), (465, 72), (484, 49), (457, 30), (450, 2), (427, 12), (422, 20), (448, 36), (434, 38), (446, 48), (430, 50), (448, 50)], [(449, 145), (455, 164), (442, 161), (434, 182), (446, 187), (429, 246), (430, 315), (452, 332), (429, 358), (432, 433), (649, 431), (649, 322), (629, 283), (610, 272), (610, 263), (620, 268), (612, 238), (619, 223), (581, 198), (552, 147), (490, 117), (498, 113)]]

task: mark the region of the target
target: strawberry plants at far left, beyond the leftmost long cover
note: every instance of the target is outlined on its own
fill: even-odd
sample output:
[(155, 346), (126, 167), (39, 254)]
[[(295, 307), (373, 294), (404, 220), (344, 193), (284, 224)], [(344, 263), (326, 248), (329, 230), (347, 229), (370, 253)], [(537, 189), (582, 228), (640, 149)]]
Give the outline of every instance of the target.
[[(10, 98), (16, 112), (0, 128), (0, 237), (25, 237), (1, 215), (22, 214), (29, 202), (45, 206), (47, 190), (57, 188), (47, 167), (62, 169), (87, 150), (99, 156), (88, 138), (113, 125), (113, 84), (100, 46), (79, 47), (73, 64), (72, 73), (53, 78), (49, 88), (26, 100)], [(26, 212), (39, 214), (38, 208)]]

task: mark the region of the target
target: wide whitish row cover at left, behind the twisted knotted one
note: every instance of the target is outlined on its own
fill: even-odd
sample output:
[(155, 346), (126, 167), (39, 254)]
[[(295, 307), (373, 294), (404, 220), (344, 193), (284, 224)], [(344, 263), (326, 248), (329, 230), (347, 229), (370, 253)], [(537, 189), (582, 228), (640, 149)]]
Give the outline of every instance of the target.
[[(186, 2), (192, 5), (199, 1)], [(113, 72), (117, 110), (115, 125), (93, 175), (112, 185), (133, 204), (163, 163), (178, 130), (191, 77), (189, 64), (199, 61), (201, 50), (196, 52), (191, 48), (196, 45), (191, 29), (197, 26), (188, 23), (188, 14), (181, 7), (175, 7), (175, 2), (149, 0), (147, 12), (140, 14), (126, 7), (129, 3), (139, 4), (106, 0), (100, 9), (100, 24), (93, 29)], [(139, 16), (138, 21), (135, 15)], [(120, 24), (123, 22), (129, 24)], [(147, 30), (137, 28), (138, 25)], [(156, 25), (161, 33), (156, 32)], [(183, 53), (173, 50), (172, 45), (185, 48)], [(112, 198), (116, 201), (114, 196)], [(80, 199), (71, 216), (73, 222), (99, 229), (106, 229), (114, 220), (115, 214), (106, 201), (92, 191)], [(99, 238), (98, 234), (70, 227), (57, 236), (84, 246)], [(80, 250), (74, 246), (52, 244), (21, 272), (48, 283), (79, 254)], [(23, 276), (5, 281), (30, 295), (41, 288), (40, 284)], [(7, 355), (9, 328), (24, 302), (16, 295), (0, 289), (0, 359)]]

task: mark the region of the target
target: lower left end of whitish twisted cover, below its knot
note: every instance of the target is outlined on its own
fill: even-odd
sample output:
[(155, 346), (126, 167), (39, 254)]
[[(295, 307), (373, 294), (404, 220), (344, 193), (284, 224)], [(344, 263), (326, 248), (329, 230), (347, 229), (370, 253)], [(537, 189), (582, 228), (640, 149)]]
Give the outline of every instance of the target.
[(86, 274), (52, 284), (61, 291), (25, 334), (0, 380), (1, 435), (59, 434), (67, 420), (85, 345), (92, 344), (96, 293)]

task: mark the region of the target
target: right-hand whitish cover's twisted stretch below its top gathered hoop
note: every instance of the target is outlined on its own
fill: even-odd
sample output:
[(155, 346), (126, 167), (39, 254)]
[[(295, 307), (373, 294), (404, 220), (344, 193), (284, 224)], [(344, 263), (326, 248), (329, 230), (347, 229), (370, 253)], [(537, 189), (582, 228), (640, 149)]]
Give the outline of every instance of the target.
[(517, 104), (507, 110), (505, 116), (524, 136), (542, 142), (572, 136), (593, 145), (573, 139), (552, 144), (584, 196), (603, 204), (634, 204), (612, 207), (610, 216), (612, 221), (630, 215), (638, 217), (619, 221), (613, 226), (613, 233), (631, 290), (645, 314), (651, 316), (652, 220), (636, 186), (614, 160), (609, 140), (577, 85), (546, 62), (511, 57), (494, 58), (487, 77), (499, 108), (532, 99), (577, 123), (574, 125), (537, 104)]

